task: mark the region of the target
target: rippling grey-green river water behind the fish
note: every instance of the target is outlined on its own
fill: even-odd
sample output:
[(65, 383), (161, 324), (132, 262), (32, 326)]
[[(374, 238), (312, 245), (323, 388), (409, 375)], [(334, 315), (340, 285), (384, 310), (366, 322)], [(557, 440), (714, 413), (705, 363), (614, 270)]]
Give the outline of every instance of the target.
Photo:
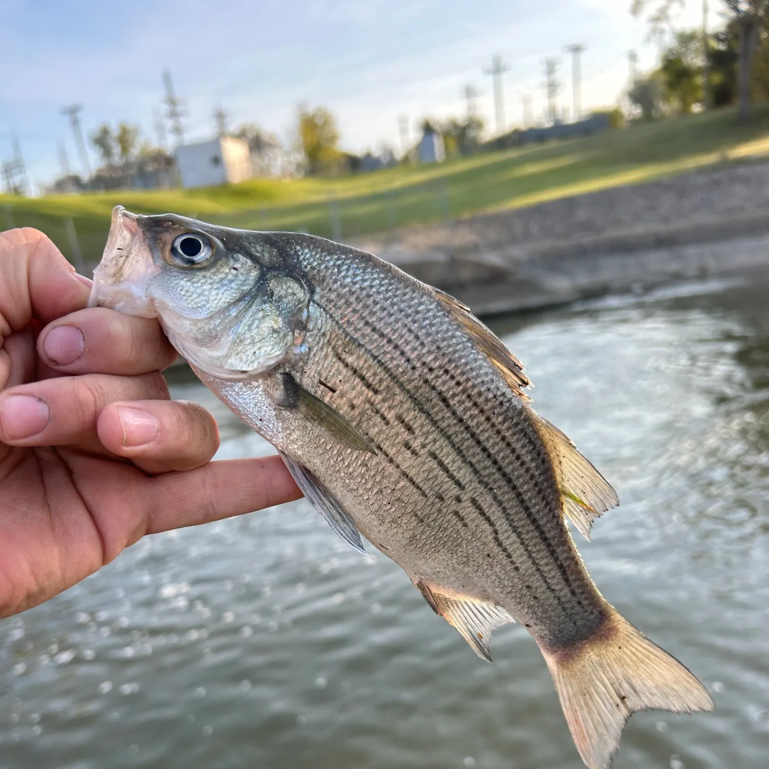
[[(766, 767), (769, 278), (492, 325), (618, 491), (578, 538), (594, 580), (717, 704), (635, 715), (615, 767)], [(271, 451), (173, 391), (215, 412), (221, 458)], [(304, 501), (160, 534), (0, 624), (0, 767), (581, 767), (536, 644), (493, 648)]]

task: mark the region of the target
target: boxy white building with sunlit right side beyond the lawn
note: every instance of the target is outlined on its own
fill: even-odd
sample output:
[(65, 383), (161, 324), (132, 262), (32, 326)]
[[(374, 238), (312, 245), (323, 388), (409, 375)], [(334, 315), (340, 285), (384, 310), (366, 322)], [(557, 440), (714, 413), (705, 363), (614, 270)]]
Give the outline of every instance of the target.
[(251, 178), (248, 141), (220, 136), (198, 144), (181, 145), (174, 153), (182, 187), (236, 185)]

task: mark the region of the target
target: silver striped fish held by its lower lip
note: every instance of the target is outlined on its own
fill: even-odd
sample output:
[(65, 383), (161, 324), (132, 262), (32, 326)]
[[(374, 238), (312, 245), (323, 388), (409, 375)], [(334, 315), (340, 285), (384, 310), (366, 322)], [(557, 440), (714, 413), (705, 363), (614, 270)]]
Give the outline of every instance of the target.
[(634, 711), (712, 709), (594, 586), (564, 517), (588, 537), (618, 498), (458, 301), (322, 238), (118, 206), (91, 303), (158, 317), (331, 528), (400, 564), (481, 657), (521, 622), (591, 769)]

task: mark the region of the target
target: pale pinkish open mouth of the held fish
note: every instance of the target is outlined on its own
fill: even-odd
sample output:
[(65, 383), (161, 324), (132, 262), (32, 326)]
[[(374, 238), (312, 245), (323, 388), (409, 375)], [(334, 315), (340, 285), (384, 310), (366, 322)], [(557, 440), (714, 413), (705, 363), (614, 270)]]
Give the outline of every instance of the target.
[(94, 270), (88, 307), (108, 307), (128, 315), (157, 318), (148, 296), (148, 281), (158, 275), (138, 217), (122, 205), (112, 209), (112, 225), (102, 261)]

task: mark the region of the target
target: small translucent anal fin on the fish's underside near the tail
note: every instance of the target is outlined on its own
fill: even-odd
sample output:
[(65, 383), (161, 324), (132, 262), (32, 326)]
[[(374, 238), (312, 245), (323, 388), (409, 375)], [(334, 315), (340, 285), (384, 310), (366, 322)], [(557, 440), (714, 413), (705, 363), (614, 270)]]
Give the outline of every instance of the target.
[(512, 615), (493, 601), (483, 601), (449, 588), (411, 578), (436, 614), (456, 628), (475, 654), (491, 662), (491, 631), (508, 622)]

